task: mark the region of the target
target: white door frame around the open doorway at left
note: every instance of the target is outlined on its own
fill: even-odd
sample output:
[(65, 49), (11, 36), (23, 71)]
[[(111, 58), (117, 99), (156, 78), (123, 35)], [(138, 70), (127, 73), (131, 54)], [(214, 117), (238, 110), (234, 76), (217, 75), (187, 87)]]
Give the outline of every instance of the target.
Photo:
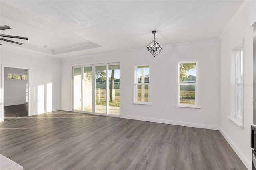
[(27, 82), (28, 82), (28, 116), (30, 116), (30, 67), (20, 67), (20, 66), (15, 66), (15, 65), (3, 65), (2, 64), (2, 114), (1, 114), (1, 120), (0, 121), (4, 121), (4, 68), (5, 67), (10, 67), (10, 68), (16, 68), (16, 69), (27, 69)]

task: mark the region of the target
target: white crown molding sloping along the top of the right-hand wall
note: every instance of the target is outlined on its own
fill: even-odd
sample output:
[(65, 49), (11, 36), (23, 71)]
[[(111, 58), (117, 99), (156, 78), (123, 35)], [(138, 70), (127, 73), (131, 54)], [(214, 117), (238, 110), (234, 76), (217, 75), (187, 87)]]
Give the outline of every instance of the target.
[(228, 22), (224, 30), (220, 33), (219, 40), (223, 38), (223, 36), (228, 32), (229, 28), (234, 25), (234, 23), (242, 16), (242, 14), (246, 11), (246, 9), (250, 6), (250, 0), (244, 0), (244, 2), (241, 4), (241, 6), (238, 8), (234, 16), (231, 18), (231, 20)]

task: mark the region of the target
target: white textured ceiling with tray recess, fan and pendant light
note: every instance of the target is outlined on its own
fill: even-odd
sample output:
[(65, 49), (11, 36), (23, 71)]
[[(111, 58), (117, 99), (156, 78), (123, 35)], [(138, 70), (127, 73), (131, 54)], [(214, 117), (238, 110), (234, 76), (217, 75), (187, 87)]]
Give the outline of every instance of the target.
[(157, 30), (160, 45), (213, 39), (241, 4), (237, 0), (1, 0), (0, 25), (12, 28), (1, 34), (28, 37), (12, 39), (24, 42), (21, 46), (1, 43), (65, 58), (146, 48), (153, 40), (152, 30)]

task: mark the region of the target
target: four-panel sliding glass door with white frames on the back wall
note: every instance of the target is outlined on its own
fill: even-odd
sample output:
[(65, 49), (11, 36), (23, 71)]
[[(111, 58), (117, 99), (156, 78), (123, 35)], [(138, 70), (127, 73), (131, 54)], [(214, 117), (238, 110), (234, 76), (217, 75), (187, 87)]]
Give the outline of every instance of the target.
[(119, 116), (120, 64), (73, 67), (73, 110)]

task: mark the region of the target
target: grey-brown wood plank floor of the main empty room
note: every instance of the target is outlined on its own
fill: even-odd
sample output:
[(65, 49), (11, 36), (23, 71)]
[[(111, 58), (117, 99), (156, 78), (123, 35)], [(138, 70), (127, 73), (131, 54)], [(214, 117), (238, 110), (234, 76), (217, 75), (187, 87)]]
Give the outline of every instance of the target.
[(54, 111), (0, 123), (24, 170), (246, 170), (217, 130)]

